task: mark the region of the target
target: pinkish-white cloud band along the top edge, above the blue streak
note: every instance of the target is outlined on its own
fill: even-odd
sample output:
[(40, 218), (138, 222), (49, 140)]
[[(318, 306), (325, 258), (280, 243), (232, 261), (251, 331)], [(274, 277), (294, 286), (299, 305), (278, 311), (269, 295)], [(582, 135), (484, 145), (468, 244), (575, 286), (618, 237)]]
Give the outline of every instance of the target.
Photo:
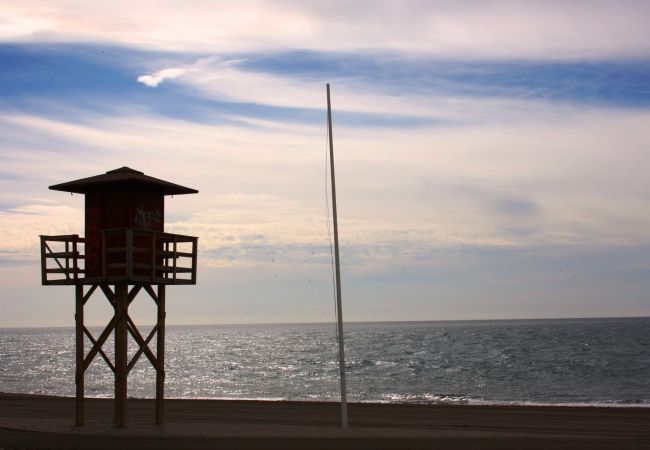
[(460, 58), (647, 58), (643, 1), (25, 0), (3, 6), (0, 38), (111, 42), (185, 52), (391, 50)]

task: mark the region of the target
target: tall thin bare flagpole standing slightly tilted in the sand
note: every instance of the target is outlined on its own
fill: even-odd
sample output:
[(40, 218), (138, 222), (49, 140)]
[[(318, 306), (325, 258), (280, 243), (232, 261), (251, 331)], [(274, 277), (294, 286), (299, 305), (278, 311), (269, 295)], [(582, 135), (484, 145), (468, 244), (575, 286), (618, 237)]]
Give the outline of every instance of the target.
[(336, 316), (339, 341), (339, 373), (341, 379), (341, 427), (348, 427), (348, 400), (345, 377), (345, 349), (343, 343), (343, 310), (341, 305), (341, 265), (339, 261), (339, 227), (336, 215), (336, 180), (334, 177), (334, 142), (332, 141), (332, 106), (330, 85), (327, 83), (327, 128), (330, 141), (330, 174), (332, 177), (332, 215), (334, 217), (334, 263), (336, 265)]

